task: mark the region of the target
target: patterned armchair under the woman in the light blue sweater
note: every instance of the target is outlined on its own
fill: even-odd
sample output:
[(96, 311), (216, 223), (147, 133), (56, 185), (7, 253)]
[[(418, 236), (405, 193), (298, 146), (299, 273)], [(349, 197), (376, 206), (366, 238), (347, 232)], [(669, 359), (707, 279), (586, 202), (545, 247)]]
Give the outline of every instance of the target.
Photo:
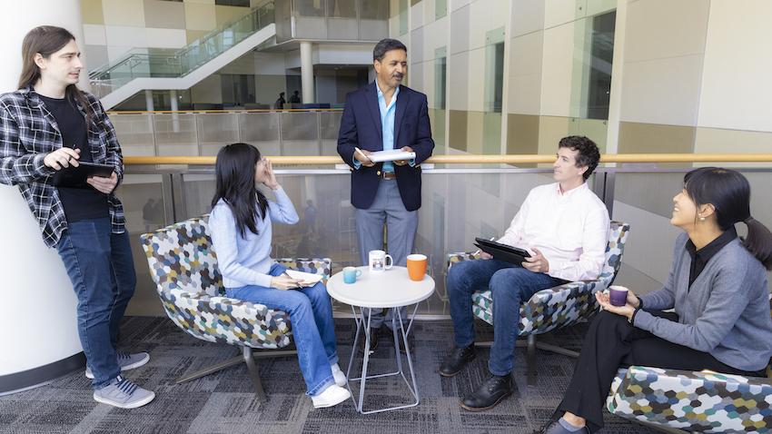
[[(196, 217), (140, 239), (148, 266), (161, 298), (163, 310), (179, 328), (201, 340), (242, 347), (242, 355), (177, 380), (195, 380), (218, 370), (245, 362), (255, 393), (262, 402), (265, 392), (255, 357), (292, 354), (293, 350), (254, 352), (252, 349), (281, 349), (290, 344), (289, 314), (262, 304), (225, 297), (223, 277), (209, 236), (207, 216)], [(287, 268), (329, 277), (330, 259), (280, 259)]]

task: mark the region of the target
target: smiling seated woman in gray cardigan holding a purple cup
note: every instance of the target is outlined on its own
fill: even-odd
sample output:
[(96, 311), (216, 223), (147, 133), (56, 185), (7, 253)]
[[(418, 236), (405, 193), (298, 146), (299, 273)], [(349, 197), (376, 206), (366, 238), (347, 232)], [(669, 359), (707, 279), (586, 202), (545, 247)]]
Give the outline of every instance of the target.
[[(767, 272), (772, 233), (750, 215), (750, 185), (740, 173), (706, 167), (684, 177), (673, 198), (676, 240), (668, 281), (625, 306), (596, 293), (603, 311), (592, 321), (560, 419), (541, 432), (603, 428), (602, 407), (620, 365), (714, 370), (764, 376), (772, 356)], [(737, 237), (735, 223), (747, 225)], [(673, 309), (675, 312), (663, 312)]]

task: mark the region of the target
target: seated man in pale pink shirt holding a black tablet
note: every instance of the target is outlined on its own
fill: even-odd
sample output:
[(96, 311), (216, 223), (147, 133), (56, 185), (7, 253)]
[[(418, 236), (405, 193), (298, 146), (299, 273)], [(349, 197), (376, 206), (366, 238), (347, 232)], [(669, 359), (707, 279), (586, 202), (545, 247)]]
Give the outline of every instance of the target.
[(528, 194), (500, 243), (527, 249), (521, 264), (492, 259), (462, 261), (448, 272), (450, 317), (455, 348), (440, 365), (440, 375), (453, 377), (475, 358), (471, 295), (488, 287), (493, 297), (493, 346), (490, 377), (460, 403), (470, 411), (492, 409), (512, 393), (515, 340), (520, 303), (537, 291), (567, 281), (598, 278), (609, 239), (609, 212), (587, 179), (598, 166), (598, 146), (583, 136), (560, 140), (553, 178)]

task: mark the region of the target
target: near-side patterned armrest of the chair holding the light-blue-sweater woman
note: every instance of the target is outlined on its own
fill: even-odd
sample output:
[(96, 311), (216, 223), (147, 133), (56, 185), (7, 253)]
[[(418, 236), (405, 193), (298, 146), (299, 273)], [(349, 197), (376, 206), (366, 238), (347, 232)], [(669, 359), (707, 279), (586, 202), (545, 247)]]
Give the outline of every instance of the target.
[(290, 316), (284, 311), (176, 289), (158, 293), (169, 318), (198, 339), (262, 349), (290, 344)]

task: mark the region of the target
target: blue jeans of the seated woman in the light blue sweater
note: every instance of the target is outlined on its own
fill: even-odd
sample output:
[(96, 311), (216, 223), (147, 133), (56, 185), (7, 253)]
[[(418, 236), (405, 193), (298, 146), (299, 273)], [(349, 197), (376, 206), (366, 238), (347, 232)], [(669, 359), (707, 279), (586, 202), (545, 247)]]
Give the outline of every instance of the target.
[[(287, 270), (274, 263), (272, 276)], [(292, 339), (298, 349), (298, 363), (301, 365), (306, 395), (316, 396), (335, 383), (331, 365), (338, 362), (335, 345), (335, 326), (332, 322), (332, 302), (322, 282), (310, 288), (281, 291), (257, 285), (225, 290), (228, 297), (260, 303), (272, 309), (290, 314)]]

